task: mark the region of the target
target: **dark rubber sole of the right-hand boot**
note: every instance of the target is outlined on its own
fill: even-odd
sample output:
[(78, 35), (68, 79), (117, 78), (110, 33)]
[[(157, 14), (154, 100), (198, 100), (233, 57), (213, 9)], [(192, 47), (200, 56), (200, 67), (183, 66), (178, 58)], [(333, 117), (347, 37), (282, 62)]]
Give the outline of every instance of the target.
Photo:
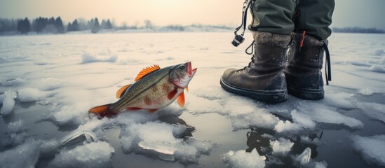
[(299, 99), (320, 100), (320, 99), (323, 99), (323, 95), (325, 91), (324, 90), (304, 90), (304, 89), (297, 89), (297, 88), (288, 86), (288, 93), (295, 97), (298, 97)]

